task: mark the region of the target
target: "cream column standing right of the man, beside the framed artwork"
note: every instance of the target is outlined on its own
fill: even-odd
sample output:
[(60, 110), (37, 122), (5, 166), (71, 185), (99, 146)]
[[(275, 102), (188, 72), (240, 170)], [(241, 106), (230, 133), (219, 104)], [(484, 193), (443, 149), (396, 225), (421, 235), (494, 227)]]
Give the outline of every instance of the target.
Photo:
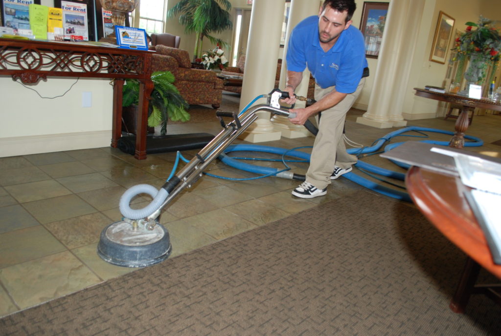
[(358, 123), (378, 128), (400, 127), (407, 124), (402, 117), (403, 99), (416, 49), (424, 3), (425, 0), (390, 2), (375, 71), (374, 87), (367, 112), (357, 118)]

